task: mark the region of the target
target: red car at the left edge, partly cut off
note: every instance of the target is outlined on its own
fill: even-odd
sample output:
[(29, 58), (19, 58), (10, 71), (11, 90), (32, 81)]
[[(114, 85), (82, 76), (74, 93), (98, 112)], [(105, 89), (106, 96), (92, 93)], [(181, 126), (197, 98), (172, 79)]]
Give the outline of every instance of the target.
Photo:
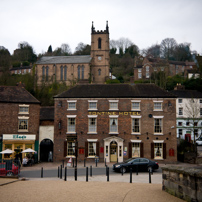
[(6, 162), (0, 163), (0, 176), (13, 176), (18, 175), (18, 173), (20, 173), (20, 169), (17, 164), (12, 163), (11, 165), (6, 164)]

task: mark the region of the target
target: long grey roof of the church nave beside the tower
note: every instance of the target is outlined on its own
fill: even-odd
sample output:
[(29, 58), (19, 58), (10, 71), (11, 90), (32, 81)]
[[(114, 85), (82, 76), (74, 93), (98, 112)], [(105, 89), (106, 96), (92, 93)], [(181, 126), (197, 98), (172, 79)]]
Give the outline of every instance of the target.
[(43, 56), (36, 64), (76, 64), (76, 63), (90, 63), (90, 55), (77, 56)]

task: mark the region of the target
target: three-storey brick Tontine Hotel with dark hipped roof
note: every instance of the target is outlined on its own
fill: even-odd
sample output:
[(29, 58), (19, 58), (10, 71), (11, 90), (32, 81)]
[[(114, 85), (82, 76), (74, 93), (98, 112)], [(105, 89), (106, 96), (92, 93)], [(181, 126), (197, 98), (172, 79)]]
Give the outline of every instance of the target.
[(55, 161), (76, 151), (87, 161), (177, 161), (176, 98), (154, 84), (77, 85), (54, 100)]

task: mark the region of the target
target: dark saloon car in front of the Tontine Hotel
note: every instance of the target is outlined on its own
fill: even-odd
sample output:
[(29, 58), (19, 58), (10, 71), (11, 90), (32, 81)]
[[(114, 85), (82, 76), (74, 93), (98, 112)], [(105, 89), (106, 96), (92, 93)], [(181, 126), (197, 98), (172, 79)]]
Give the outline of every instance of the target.
[(132, 168), (132, 171), (154, 171), (159, 168), (159, 165), (155, 161), (151, 161), (146, 158), (130, 158), (122, 163), (116, 163), (113, 165), (114, 171), (119, 172), (127, 172), (130, 171), (130, 168)]

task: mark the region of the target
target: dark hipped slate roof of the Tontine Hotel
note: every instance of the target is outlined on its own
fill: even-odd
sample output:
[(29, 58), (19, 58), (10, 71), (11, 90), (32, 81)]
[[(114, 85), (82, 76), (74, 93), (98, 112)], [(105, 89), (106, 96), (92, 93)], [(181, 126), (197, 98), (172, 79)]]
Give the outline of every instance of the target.
[(154, 84), (77, 85), (54, 98), (176, 98)]

